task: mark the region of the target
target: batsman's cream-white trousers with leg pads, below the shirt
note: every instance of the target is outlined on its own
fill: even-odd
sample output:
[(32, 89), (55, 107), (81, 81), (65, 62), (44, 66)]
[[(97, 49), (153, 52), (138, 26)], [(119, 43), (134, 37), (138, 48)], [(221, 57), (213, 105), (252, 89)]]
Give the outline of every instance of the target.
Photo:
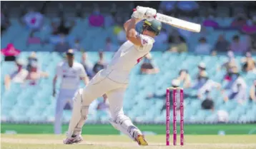
[(124, 115), (122, 108), (124, 93), (127, 88), (127, 78), (117, 82), (116, 78), (112, 79), (111, 76), (118, 75), (99, 71), (88, 86), (79, 90), (74, 100), (72, 119), (70, 120), (67, 134), (68, 138), (72, 137), (73, 134), (78, 135), (81, 133), (82, 126), (87, 119), (89, 105), (104, 93), (107, 94), (109, 100), (109, 111), (112, 115), (112, 120), (117, 122), (117, 125), (123, 125), (122, 128), (127, 131), (131, 129), (131, 126), (134, 126), (132, 121)]

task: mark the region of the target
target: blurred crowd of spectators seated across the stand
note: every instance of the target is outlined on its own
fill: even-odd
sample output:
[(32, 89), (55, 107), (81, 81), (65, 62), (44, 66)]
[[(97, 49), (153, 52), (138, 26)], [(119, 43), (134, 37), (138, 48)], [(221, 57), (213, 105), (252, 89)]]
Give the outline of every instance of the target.
[[(162, 1), (159, 4), (159, 12), (174, 16), (179, 16), (181, 19), (186, 19), (184, 16), (195, 17), (200, 15), (200, 4), (195, 1)], [(209, 10), (212, 9), (209, 8)], [(111, 38), (106, 39), (106, 44), (103, 48), (104, 51), (116, 51), (117, 47), (126, 41), (126, 35), (122, 29), (122, 23), (126, 18), (117, 14), (117, 6), (112, 5), (110, 14), (103, 14), (99, 6), (94, 6), (94, 9), (89, 16), (84, 16), (82, 14), (82, 9), (77, 9), (77, 16), (79, 18), (88, 19), (89, 26), (108, 28), (109, 26), (114, 26), (113, 33), (117, 36), (119, 41), (118, 45), (112, 43)], [(256, 14), (256, 13), (255, 13)], [(226, 86), (221, 86), (220, 83), (212, 81), (207, 75), (207, 67), (205, 63), (199, 63), (197, 78), (191, 78), (187, 70), (182, 70), (179, 72), (179, 76), (172, 81), (172, 86), (182, 86), (183, 88), (191, 88), (197, 90), (197, 96), (202, 100), (202, 108), (212, 109), (214, 108), (213, 100), (210, 96), (212, 88), (217, 88), (221, 91), (224, 101), (235, 100), (237, 103), (245, 103), (247, 99), (252, 102), (256, 102), (256, 80), (253, 86), (247, 86), (243, 76), (240, 75), (241, 72), (244, 73), (255, 73), (256, 67), (255, 60), (252, 58), (252, 54), (256, 52), (256, 15), (251, 13), (247, 14), (241, 11), (237, 15), (231, 15), (234, 17), (232, 24), (230, 26), (221, 26), (215, 21), (215, 16), (212, 13), (208, 13), (205, 20), (202, 22), (202, 37), (198, 41), (195, 49), (192, 51), (195, 54), (204, 54), (215, 56), (216, 53), (227, 53), (227, 58), (229, 59), (222, 66), (217, 67), (216, 71), (220, 71), (225, 68), (226, 75), (223, 76), (223, 81), (227, 81)], [(89, 77), (93, 77), (95, 73), (100, 71), (107, 65), (107, 61), (104, 60), (104, 53), (99, 52), (99, 61), (97, 63), (92, 63), (87, 58), (87, 53), (84, 51), (89, 51), (87, 47), (81, 45), (80, 38), (75, 38), (74, 43), (69, 43), (67, 38), (70, 38), (69, 33), (72, 31), (73, 27), (76, 26), (76, 22), (73, 19), (67, 19), (64, 17), (64, 10), (59, 9), (59, 20), (51, 20), (51, 26), (44, 26), (44, 11), (27, 9), (21, 14), (19, 23), (26, 27), (30, 31), (29, 38), (27, 39), (27, 44), (35, 43), (51, 43), (55, 46), (55, 51), (62, 53), (67, 51), (69, 48), (73, 48), (74, 51), (82, 51), (82, 60), (85, 70)], [(8, 31), (11, 23), (9, 21), (9, 14), (6, 9), (1, 10), (1, 36)], [(225, 34), (221, 34), (217, 38), (217, 42), (211, 45), (207, 41), (207, 28), (216, 29), (217, 31), (240, 31), (232, 37), (232, 41), (227, 41)], [(36, 31), (48, 31), (51, 30), (51, 36), (47, 38), (38, 38), (35, 36)], [(241, 36), (245, 35), (242, 40)], [(167, 52), (182, 53), (189, 51), (189, 45), (187, 43), (187, 38), (192, 38), (192, 34), (189, 31), (184, 31), (182, 29), (162, 29), (159, 36), (156, 38), (155, 46), (167, 45), (164, 49)], [(236, 63), (235, 54), (242, 53), (245, 57), (241, 59), (240, 63)], [(32, 52), (31, 56), (27, 59), (28, 63), (24, 61), (16, 61), (16, 70), (5, 77), (6, 89), (9, 89), (11, 82), (24, 83), (24, 81), (29, 82), (30, 85), (35, 85), (42, 77), (47, 77), (46, 72), (42, 72), (37, 63), (36, 53)], [(242, 70), (240, 71), (239, 65), (242, 65)], [(142, 66), (140, 68), (141, 74), (154, 74), (158, 73), (159, 68), (157, 68), (157, 63), (154, 63), (154, 58), (149, 53), (145, 56)], [(247, 90), (250, 90), (250, 95), (247, 95)], [(155, 95), (150, 94), (148, 98), (152, 98)], [(191, 97), (192, 95), (185, 95)], [(249, 97), (248, 97), (249, 96)]]

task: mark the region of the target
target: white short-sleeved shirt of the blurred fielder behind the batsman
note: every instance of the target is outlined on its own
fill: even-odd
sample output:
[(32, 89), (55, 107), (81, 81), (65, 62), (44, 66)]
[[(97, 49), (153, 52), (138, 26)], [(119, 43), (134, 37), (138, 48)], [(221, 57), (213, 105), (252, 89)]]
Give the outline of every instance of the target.
[(56, 75), (61, 78), (61, 89), (78, 89), (80, 77), (87, 76), (87, 73), (81, 63), (74, 62), (69, 67), (67, 61), (63, 61), (56, 66)]

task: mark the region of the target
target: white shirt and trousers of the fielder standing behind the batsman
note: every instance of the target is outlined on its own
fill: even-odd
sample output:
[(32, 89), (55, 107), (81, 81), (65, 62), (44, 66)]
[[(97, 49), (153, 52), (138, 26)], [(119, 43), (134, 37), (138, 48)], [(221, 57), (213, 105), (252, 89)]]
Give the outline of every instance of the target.
[(61, 78), (61, 85), (56, 103), (54, 133), (61, 133), (61, 118), (64, 111), (64, 106), (70, 102), (73, 106), (74, 94), (80, 85), (80, 78), (87, 76), (84, 66), (81, 63), (74, 62), (72, 67), (69, 67), (67, 61), (63, 61), (56, 66), (56, 76)]

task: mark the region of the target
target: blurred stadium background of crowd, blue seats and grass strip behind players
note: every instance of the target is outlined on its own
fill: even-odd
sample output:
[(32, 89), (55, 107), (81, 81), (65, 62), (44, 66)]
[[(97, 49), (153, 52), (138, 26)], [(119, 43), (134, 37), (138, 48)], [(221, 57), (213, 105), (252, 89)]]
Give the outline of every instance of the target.
[[(126, 41), (122, 25), (136, 6), (202, 31), (163, 26), (131, 73), (124, 112), (142, 130), (165, 133), (165, 90), (179, 86), (186, 133), (255, 134), (255, 1), (1, 1), (1, 133), (53, 133), (52, 81), (64, 52), (74, 49), (92, 78)], [(118, 133), (107, 107), (92, 103), (84, 133)], [(67, 105), (63, 131), (71, 113)]]

